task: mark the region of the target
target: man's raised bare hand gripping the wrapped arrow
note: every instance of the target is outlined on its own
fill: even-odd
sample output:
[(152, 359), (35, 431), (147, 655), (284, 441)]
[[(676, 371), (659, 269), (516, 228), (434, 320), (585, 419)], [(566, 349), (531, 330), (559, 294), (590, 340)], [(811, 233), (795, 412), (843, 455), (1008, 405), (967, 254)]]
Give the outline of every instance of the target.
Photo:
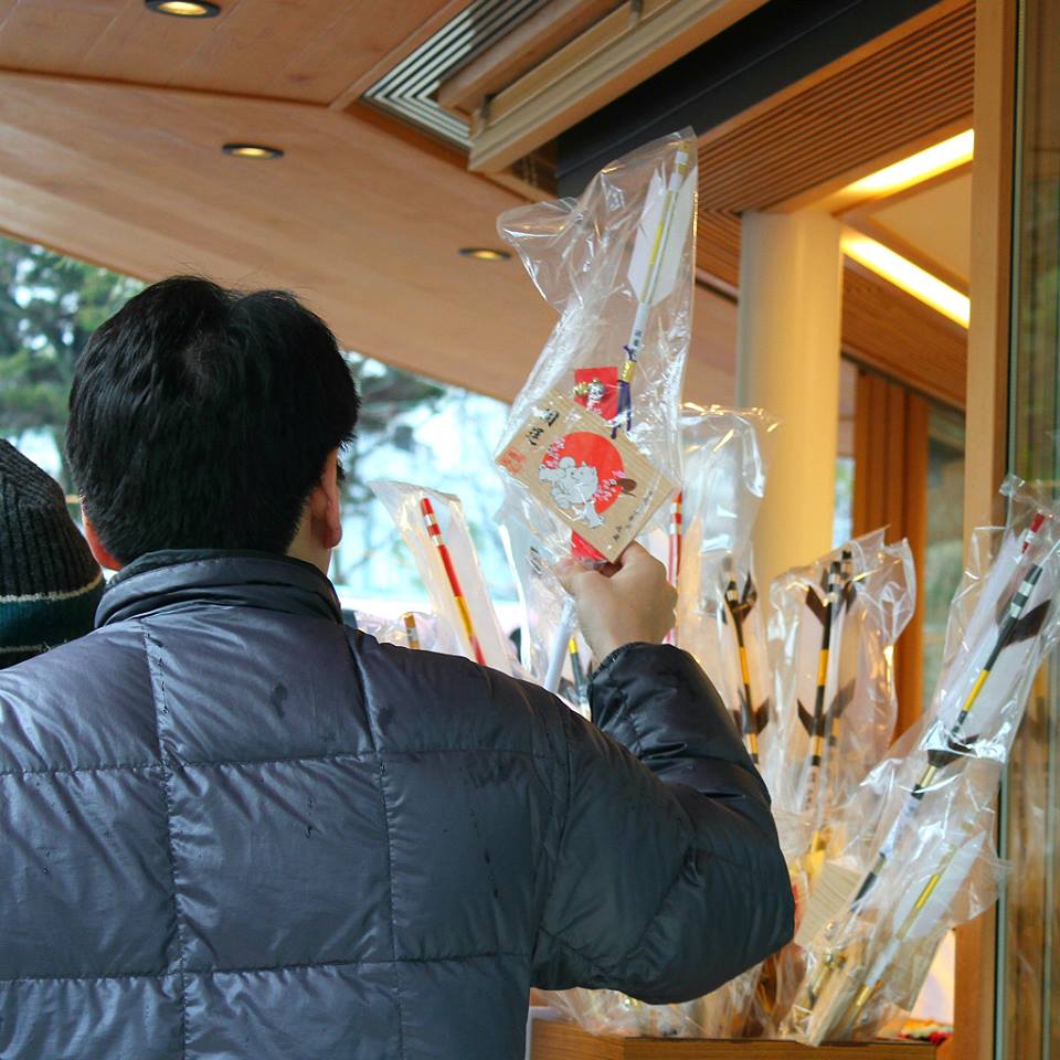
[(556, 574), (577, 604), (579, 626), (597, 659), (624, 644), (658, 643), (674, 628), (677, 593), (666, 568), (636, 542), (598, 571), (568, 560)]

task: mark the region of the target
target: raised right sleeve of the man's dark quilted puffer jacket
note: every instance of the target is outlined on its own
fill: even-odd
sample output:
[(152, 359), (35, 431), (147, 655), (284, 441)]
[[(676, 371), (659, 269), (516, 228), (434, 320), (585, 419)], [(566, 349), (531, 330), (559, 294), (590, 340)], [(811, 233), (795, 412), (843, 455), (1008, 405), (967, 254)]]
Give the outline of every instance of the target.
[(534, 985), (698, 997), (792, 936), (765, 785), (685, 651), (621, 648), (591, 702), (598, 730), (571, 712), (561, 723), (565, 819)]

